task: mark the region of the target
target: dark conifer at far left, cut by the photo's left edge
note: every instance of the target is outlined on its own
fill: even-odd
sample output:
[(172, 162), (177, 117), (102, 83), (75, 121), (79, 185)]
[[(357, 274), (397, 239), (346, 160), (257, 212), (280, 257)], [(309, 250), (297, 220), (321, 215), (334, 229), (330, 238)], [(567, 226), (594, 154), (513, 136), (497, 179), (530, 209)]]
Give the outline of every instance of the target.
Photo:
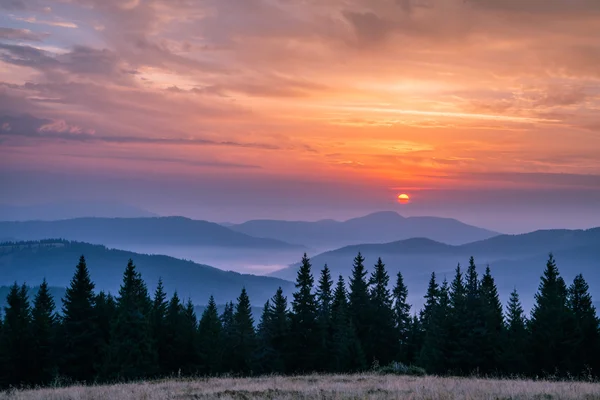
[(0, 359), (2, 361), (2, 384), (21, 385), (31, 383), (33, 367), (31, 360), (31, 309), (27, 286), (15, 282), (6, 297)]

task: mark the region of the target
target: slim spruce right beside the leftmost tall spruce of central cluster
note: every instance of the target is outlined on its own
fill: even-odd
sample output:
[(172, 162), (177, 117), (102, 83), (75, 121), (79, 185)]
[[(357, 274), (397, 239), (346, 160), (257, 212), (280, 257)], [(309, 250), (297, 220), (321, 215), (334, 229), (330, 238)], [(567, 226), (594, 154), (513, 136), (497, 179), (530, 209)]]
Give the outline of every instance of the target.
[(319, 283), (317, 286), (317, 321), (318, 321), (318, 335), (319, 335), (319, 348), (317, 351), (318, 360), (317, 364), (323, 370), (328, 363), (331, 349), (331, 303), (333, 301), (332, 293), (333, 281), (331, 280), (331, 273), (327, 264), (321, 271)]

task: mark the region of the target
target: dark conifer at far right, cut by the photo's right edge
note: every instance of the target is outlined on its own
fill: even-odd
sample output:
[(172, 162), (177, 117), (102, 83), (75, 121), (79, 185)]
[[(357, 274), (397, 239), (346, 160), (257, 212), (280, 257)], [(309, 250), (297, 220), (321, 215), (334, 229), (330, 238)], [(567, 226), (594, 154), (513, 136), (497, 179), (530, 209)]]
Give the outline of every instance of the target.
[(575, 332), (571, 338), (574, 352), (569, 365), (574, 375), (588, 370), (595, 376), (600, 374), (600, 322), (583, 275), (573, 280), (568, 292), (568, 306), (574, 318)]

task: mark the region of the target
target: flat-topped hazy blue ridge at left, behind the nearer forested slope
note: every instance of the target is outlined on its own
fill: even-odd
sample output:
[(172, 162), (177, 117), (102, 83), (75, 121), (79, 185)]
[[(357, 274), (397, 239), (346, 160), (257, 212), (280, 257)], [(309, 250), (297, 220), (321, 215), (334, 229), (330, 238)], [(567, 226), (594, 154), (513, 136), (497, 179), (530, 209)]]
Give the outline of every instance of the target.
[(184, 217), (4, 221), (0, 222), (0, 237), (15, 240), (62, 238), (109, 246), (172, 244), (265, 249), (298, 247), (277, 239), (255, 238), (219, 224)]

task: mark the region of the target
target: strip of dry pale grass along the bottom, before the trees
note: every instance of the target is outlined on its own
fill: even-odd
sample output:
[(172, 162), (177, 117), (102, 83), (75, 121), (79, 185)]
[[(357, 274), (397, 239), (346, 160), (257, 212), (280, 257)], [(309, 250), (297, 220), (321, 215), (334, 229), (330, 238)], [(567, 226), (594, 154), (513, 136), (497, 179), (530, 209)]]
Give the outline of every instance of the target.
[(307, 375), (214, 378), (13, 391), (4, 399), (600, 399), (600, 384), (527, 380)]

